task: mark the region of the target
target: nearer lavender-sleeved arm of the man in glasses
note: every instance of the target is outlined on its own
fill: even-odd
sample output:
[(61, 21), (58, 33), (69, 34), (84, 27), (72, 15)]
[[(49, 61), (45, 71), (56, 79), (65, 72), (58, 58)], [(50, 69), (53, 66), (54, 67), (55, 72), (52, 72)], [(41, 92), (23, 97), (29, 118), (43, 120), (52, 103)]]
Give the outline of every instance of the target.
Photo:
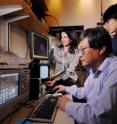
[(117, 78), (113, 72), (106, 80), (99, 96), (87, 103), (66, 102), (65, 111), (77, 122), (95, 124), (107, 123), (109, 117), (117, 115)]

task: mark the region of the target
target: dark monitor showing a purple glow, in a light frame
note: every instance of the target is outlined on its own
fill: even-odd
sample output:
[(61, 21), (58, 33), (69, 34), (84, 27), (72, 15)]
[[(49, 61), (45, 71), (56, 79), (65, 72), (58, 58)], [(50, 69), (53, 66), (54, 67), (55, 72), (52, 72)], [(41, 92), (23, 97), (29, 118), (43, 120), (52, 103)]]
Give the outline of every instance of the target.
[(49, 56), (48, 37), (31, 32), (31, 56), (32, 59), (48, 59)]

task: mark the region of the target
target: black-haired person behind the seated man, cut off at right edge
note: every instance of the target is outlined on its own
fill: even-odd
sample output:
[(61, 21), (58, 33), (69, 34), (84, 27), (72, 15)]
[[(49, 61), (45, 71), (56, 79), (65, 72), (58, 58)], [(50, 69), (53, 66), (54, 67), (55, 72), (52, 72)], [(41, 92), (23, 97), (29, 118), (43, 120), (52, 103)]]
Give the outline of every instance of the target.
[(117, 4), (111, 5), (103, 15), (104, 28), (112, 37), (112, 51), (117, 56)]

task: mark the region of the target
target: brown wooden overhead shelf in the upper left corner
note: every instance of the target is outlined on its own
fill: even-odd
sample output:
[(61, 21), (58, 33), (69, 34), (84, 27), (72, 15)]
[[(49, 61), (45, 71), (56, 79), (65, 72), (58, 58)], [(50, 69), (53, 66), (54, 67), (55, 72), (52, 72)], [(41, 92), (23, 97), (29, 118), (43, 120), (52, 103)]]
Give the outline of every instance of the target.
[(17, 20), (17, 23), (25, 30), (34, 31), (43, 35), (48, 34), (48, 28), (38, 20), (36, 15), (32, 12), (31, 7), (24, 0), (0, 0), (0, 11), (3, 9), (4, 12), (2, 11), (1, 16), (3, 16), (5, 20), (29, 16)]

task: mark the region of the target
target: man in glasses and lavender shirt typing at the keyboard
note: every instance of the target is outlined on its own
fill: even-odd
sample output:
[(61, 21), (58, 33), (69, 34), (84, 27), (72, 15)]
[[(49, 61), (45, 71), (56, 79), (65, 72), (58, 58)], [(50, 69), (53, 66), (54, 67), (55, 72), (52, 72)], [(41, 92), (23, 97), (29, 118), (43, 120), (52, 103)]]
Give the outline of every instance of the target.
[(54, 88), (86, 99), (86, 103), (78, 103), (63, 96), (58, 101), (58, 107), (78, 124), (117, 124), (117, 57), (111, 53), (111, 37), (103, 27), (85, 30), (78, 44), (80, 61), (90, 68), (84, 87)]

